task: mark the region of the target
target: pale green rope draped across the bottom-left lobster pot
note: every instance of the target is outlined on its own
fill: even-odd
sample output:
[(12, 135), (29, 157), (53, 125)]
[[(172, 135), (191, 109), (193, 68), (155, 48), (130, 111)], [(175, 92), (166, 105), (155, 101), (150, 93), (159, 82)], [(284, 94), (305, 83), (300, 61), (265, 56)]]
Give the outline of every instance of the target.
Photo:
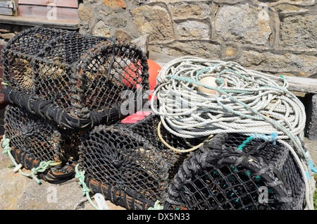
[[(15, 167), (18, 167), (18, 163), (16, 163), (14, 157), (11, 154), (11, 147), (10, 147), (10, 139), (6, 138), (6, 135), (1, 139), (2, 148), (4, 151), (1, 154), (6, 154), (6, 156), (9, 156), (11, 158), (11, 161), (14, 163)], [(39, 163), (39, 166), (36, 168), (32, 168), (30, 173), (24, 173), (21, 169), (19, 169), (19, 172), (22, 175), (25, 175), (27, 177), (30, 177), (34, 179), (38, 184), (41, 183), (41, 181), (37, 178), (37, 173), (43, 173), (48, 168), (51, 168), (51, 166), (57, 166), (61, 164), (61, 162), (55, 162), (55, 161), (42, 161)]]

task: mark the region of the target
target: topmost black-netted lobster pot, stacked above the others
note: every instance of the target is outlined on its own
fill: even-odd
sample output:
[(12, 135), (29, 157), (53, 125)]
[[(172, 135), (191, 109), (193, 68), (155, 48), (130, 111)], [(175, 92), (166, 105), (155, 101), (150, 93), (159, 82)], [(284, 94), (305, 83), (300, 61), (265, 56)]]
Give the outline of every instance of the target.
[(147, 57), (112, 38), (34, 27), (15, 35), (2, 58), (6, 101), (67, 128), (122, 118), (120, 106), (149, 89)]

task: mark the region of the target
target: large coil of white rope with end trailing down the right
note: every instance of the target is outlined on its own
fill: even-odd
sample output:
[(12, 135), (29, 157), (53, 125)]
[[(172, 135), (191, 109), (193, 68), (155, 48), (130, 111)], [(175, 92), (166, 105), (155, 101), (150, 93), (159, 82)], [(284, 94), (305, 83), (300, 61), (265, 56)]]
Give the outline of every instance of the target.
[[(204, 83), (204, 77), (215, 77), (218, 85)], [(200, 92), (199, 87), (214, 90), (216, 94)], [(305, 108), (287, 87), (282, 76), (247, 70), (235, 62), (182, 57), (161, 69), (151, 107), (160, 115), (161, 124), (168, 132), (185, 139), (222, 132), (244, 135), (275, 132), (277, 139), (292, 141), (297, 162), (307, 168), (310, 158), (299, 140), (306, 123)], [(159, 108), (154, 106), (156, 97)], [(311, 169), (303, 166), (304, 178), (307, 172), (312, 176)], [(307, 195), (311, 197), (311, 187), (305, 183)], [(306, 201), (311, 209), (311, 200)]]

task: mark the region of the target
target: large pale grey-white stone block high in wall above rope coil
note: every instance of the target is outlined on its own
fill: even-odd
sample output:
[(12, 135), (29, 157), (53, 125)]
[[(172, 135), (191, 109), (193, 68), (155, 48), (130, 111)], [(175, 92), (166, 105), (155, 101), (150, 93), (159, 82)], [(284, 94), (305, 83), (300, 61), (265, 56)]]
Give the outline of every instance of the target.
[(257, 46), (268, 45), (272, 33), (267, 11), (249, 4), (218, 8), (215, 30), (220, 41)]

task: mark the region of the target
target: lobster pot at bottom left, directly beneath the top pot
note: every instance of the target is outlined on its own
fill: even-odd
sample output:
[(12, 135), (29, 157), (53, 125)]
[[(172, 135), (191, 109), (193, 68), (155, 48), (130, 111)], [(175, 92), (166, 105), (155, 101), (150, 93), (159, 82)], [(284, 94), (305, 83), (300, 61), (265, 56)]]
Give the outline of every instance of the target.
[(41, 162), (59, 162), (39, 178), (52, 183), (73, 178), (82, 131), (60, 128), (16, 105), (6, 106), (4, 129), (17, 163), (32, 170)]

